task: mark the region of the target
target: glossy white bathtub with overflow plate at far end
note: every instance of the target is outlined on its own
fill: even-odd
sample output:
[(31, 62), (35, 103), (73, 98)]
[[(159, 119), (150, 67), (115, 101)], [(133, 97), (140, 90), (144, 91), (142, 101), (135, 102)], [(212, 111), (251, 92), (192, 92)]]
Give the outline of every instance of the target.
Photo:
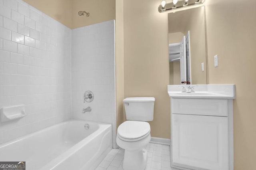
[(93, 170), (111, 148), (111, 125), (70, 120), (1, 144), (0, 161), (26, 161), (26, 170)]

